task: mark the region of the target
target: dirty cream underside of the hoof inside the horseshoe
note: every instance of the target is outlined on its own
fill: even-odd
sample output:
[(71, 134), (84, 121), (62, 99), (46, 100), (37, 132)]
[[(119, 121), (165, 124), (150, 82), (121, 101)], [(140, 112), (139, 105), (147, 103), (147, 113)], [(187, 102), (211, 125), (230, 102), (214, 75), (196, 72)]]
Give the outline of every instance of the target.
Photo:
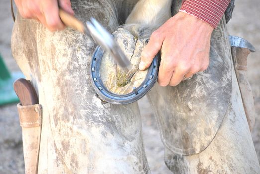
[(130, 60), (132, 67), (126, 71), (119, 67), (115, 60), (105, 52), (101, 61), (100, 76), (108, 91), (115, 94), (128, 94), (144, 81), (147, 70), (140, 71), (138, 65), (146, 39), (133, 36), (128, 30), (119, 28), (113, 33), (120, 48)]

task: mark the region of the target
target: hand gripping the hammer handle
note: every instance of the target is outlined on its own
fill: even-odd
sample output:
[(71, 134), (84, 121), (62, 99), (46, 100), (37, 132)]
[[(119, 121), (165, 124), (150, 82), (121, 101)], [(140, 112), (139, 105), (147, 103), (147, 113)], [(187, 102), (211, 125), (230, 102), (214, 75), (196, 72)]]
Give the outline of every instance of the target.
[(25, 19), (36, 19), (50, 31), (65, 28), (59, 17), (59, 6), (74, 15), (70, 0), (14, 0), (19, 13)]

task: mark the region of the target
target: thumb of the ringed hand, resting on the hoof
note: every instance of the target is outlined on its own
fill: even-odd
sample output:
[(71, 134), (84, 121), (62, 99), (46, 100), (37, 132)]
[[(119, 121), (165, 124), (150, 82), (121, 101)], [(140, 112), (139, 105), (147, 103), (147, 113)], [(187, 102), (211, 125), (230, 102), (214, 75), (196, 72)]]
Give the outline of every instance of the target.
[(163, 41), (163, 34), (158, 31), (152, 33), (150, 40), (141, 55), (141, 61), (139, 63), (140, 70), (146, 70), (151, 65), (154, 57), (160, 51)]

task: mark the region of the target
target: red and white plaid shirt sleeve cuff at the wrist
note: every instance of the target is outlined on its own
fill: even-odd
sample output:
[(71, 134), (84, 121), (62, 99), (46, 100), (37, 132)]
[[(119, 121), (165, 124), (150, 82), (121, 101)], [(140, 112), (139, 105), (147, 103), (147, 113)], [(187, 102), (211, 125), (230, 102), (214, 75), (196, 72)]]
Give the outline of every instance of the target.
[(193, 15), (216, 28), (230, 0), (183, 0), (179, 11)]

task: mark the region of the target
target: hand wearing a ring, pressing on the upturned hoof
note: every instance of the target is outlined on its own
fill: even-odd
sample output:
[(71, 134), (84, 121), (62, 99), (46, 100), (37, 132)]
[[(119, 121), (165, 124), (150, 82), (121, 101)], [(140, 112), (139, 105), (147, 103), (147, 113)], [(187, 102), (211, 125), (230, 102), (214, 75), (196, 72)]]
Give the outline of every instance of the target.
[(158, 83), (176, 86), (184, 78), (204, 71), (209, 65), (213, 27), (189, 14), (179, 12), (154, 31), (142, 52), (140, 70), (147, 69), (161, 49)]

